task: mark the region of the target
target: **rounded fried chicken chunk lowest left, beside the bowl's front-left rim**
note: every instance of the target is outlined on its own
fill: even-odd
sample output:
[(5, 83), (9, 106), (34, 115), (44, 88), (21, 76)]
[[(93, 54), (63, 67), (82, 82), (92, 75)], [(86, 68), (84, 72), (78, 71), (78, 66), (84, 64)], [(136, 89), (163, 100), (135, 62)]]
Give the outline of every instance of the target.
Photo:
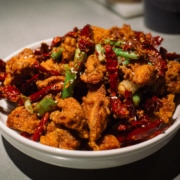
[(16, 107), (7, 119), (9, 128), (33, 134), (39, 125), (39, 119), (36, 114), (30, 114), (24, 106)]

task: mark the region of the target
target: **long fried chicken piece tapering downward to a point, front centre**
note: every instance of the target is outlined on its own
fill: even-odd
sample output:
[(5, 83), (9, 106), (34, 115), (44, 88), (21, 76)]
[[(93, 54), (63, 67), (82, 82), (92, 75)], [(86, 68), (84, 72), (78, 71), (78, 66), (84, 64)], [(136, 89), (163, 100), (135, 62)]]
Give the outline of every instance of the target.
[(101, 137), (108, 123), (109, 98), (106, 97), (104, 85), (98, 89), (89, 90), (82, 103), (85, 117), (89, 126), (89, 145), (93, 150), (97, 150), (96, 141)]

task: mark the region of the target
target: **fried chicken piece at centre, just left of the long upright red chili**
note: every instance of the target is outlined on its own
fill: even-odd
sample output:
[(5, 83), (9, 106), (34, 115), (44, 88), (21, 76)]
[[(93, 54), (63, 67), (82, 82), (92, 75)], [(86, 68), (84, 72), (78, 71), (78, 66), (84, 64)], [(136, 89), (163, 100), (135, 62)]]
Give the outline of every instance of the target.
[(85, 64), (85, 71), (80, 76), (81, 80), (89, 84), (97, 84), (102, 81), (106, 67), (102, 65), (95, 55), (90, 55)]

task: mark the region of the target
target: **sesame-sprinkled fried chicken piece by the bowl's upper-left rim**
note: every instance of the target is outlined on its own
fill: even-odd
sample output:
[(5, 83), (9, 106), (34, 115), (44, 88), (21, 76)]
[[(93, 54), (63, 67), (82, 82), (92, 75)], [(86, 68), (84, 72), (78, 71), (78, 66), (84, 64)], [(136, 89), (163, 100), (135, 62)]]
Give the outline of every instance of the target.
[(25, 48), (19, 54), (12, 57), (6, 63), (7, 77), (4, 81), (4, 85), (14, 83), (20, 84), (22, 79), (32, 76), (35, 71), (34, 63), (37, 62), (33, 50)]

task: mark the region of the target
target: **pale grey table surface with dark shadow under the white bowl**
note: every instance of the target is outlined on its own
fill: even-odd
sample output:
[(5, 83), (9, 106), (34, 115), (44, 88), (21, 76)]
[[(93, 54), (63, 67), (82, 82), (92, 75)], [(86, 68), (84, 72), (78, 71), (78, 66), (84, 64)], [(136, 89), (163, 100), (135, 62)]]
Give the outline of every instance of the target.
[[(129, 24), (134, 30), (164, 38), (163, 47), (180, 52), (179, 35), (154, 32), (144, 17), (124, 19), (94, 0), (0, 0), (0, 58), (36, 41), (92, 24), (109, 28)], [(0, 136), (0, 179), (180, 179), (180, 131), (153, 155), (120, 167), (77, 170), (49, 165), (26, 156)]]

